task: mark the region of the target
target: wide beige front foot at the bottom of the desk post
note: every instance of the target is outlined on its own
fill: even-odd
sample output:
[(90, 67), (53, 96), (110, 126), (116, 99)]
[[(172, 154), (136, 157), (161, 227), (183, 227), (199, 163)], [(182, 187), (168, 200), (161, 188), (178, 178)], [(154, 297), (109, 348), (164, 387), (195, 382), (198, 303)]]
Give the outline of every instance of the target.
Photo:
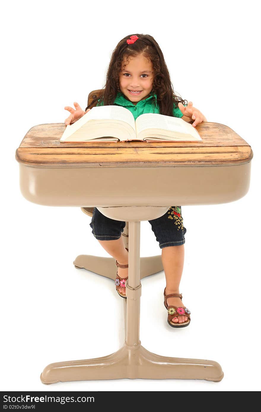
[(105, 379), (205, 379), (220, 382), (219, 363), (207, 359), (169, 358), (147, 351), (141, 344), (125, 344), (101, 358), (50, 363), (40, 379), (44, 384)]

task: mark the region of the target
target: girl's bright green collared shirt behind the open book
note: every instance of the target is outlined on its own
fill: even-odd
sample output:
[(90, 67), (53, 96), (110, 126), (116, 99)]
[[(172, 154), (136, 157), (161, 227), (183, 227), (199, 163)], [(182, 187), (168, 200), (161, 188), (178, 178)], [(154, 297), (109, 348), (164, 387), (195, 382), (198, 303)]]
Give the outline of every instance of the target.
[[(153, 101), (153, 96), (155, 97), (156, 105)], [(98, 100), (98, 102), (100, 99)], [(98, 104), (97, 104), (98, 105)], [(144, 100), (140, 100), (136, 105), (134, 105), (131, 101), (127, 100), (124, 94), (121, 91), (118, 91), (115, 101), (113, 103), (115, 106), (123, 106), (126, 109), (130, 110), (133, 114), (134, 119), (136, 120), (137, 117), (143, 115), (145, 113), (158, 113), (160, 114), (160, 108), (157, 103), (157, 95), (150, 94)], [(103, 102), (101, 102), (101, 106), (103, 106)], [(173, 104), (173, 116), (174, 117), (182, 117), (183, 113), (176, 107), (175, 103)]]

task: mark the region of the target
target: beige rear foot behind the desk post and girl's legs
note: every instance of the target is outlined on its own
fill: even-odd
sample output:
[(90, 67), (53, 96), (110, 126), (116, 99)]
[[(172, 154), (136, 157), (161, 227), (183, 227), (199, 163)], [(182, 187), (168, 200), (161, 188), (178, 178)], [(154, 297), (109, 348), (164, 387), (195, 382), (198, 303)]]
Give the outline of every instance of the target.
[[(79, 255), (73, 265), (77, 269), (87, 269), (106, 278), (115, 280), (117, 266), (115, 259), (100, 256)], [(140, 258), (140, 279), (153, 275), (163, 270), (161, 255)]]

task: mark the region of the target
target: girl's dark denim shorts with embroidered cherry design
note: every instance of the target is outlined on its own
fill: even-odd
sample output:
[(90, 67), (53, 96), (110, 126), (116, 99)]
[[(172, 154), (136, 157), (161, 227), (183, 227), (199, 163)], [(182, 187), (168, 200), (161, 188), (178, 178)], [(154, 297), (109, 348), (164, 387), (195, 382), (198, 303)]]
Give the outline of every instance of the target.
[[(148, 220), (155, 234), (160, 249), (167, 246), (179, 246), (185, 243), (186, 227), (183, 226), (181, 206), (171, 206), (160, 218)], [(104, 216), (97, 208), (92, 214), (92, 234), (98, 240), (116, 240), (125, 228), (126, 222), (113, 220)]]

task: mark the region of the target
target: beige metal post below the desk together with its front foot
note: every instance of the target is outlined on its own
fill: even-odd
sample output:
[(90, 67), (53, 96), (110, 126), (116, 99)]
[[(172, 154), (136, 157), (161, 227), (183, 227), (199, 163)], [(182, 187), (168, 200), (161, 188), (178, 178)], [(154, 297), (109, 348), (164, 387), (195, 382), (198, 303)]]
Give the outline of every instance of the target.
[[(120, 219), (118, 219), (120, 220)], [(220, 382), (221, 366), (207, 359), (170, 358), (147, 351), (139, 340), (141, 284), (140, 221), (129, 222), (129, 277), (127, 281), (127, 330), (124, 345), (101, 358), (51, 363), (42, 372), (42, 383), (104, 379), (205, 379)]]

